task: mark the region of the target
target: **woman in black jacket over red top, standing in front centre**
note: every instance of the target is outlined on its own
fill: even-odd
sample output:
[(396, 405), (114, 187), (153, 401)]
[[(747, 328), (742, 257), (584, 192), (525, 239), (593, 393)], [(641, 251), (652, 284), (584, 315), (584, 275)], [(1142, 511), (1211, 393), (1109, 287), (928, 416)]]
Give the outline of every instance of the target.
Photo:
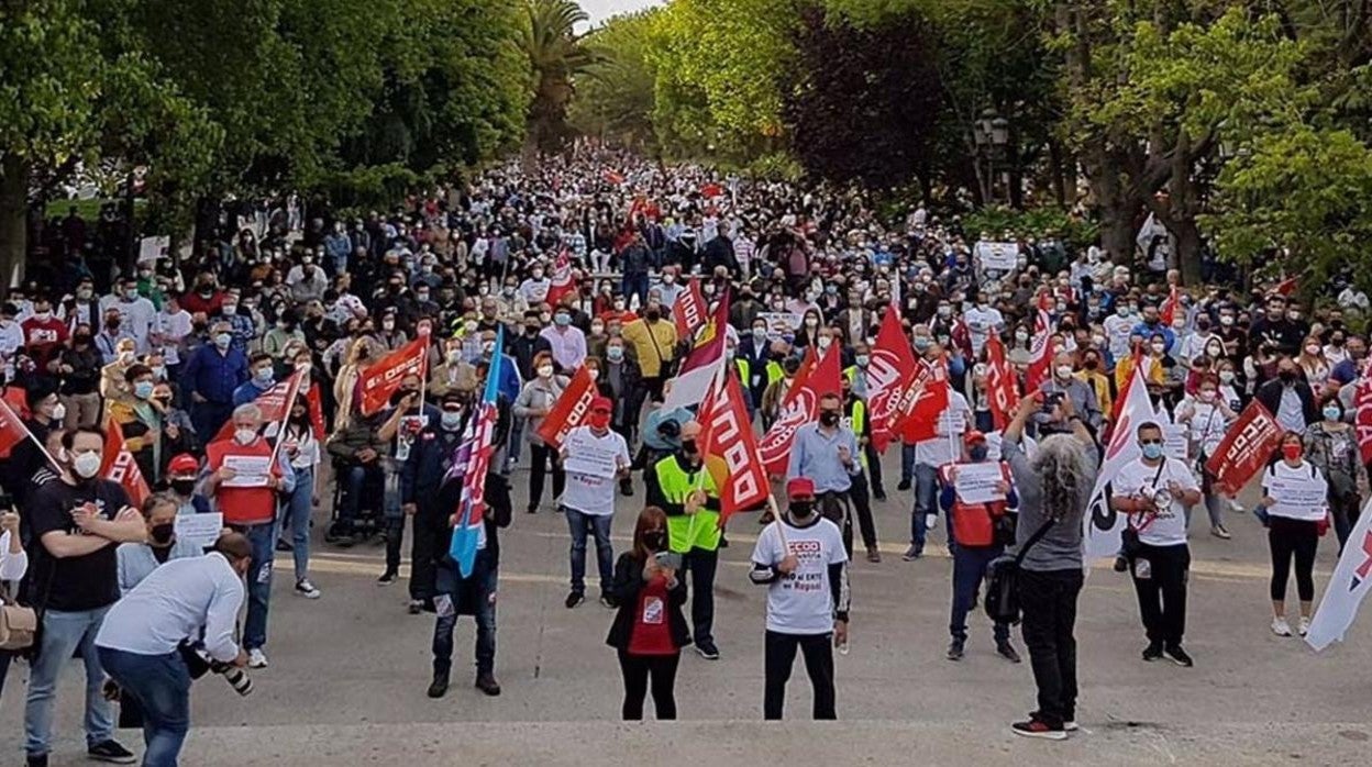
[(634, 547), (615, 564), (609, 589), (619, 612), (605, 644), (619, 650), (626, 720), (643, 718), (649, 678), (657, 719), (676, 719), (676, 664), (690, 644), (682, 615), (686, 583), (676, 578), (678, 567), (681, 560), (667, 553), (667, 515), (648, 506), (634, 526)]

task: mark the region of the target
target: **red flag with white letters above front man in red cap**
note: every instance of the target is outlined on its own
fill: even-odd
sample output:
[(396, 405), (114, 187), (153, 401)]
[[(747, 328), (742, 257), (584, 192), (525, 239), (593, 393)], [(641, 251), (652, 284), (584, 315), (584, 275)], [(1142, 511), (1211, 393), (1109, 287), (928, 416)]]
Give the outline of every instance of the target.
[(744, 392), (733, 368), (724, 368), (723, 386), (716, 387), (701, 406), (704, 429), (701, 454), (718, 456), (729, 469), (729, 479), (720, 490), (720, 527), (729, 516), (742, 509), (760, 506), (767, 501), (767, 468), (757, 454), (753, 427), (744, 406)]

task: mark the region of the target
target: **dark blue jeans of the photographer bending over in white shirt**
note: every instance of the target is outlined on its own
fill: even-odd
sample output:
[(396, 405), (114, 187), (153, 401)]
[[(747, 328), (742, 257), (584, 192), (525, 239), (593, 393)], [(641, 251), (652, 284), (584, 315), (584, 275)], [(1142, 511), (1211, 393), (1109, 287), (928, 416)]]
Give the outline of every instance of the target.
[(137, 654), (100, 648), (100, 663), (143, 707), (144, 767), (176, 767), (191, 729), (191, 674), (181, 653)]

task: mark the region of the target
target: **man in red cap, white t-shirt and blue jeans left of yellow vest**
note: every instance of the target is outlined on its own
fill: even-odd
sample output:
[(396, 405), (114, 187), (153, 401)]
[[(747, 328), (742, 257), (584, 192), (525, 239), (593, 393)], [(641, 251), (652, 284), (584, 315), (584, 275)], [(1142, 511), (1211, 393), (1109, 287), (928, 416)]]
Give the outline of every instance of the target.
[[(623, 435), (611, 431), (609, 416), (615, 410), (606, 397), (591, 399), (586, 423), (567, 434), (563, 442), (563, 462), (567, 467), (567, 487), (563, 491), (563, 512), (572, 531), (572, 590), (567, 606), (586, 601), (586, 535), (595, 535), (595, 563), (601, 576), (601, 604), (613, 608), (609, 585), (615, 578), (615, 553), (609, 545), (609, 526), (615, 516), (615, 483), (628, 476), (628, 445)], [(571, 458), (571, 462), (568, 462)]]

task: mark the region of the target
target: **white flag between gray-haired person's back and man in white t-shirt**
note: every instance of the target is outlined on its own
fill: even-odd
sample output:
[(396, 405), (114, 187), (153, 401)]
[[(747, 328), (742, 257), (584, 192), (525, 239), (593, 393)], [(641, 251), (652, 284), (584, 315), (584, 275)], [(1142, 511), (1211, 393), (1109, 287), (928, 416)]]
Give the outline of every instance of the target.
[(1096, 475), (1096, 487), (1091, 491), (1091, 504), (1087, 505), (1087, 516), (1081, 520), (1083, 545), (1088, 558), (1113, 557), (1120, 553), (1120, 534), (1124, 531), (1125, 516), (1110, 508), (1110, 495), (1114, 494), (1110, 483), (1120, 476), (1120, 469), (1143, 454), (1135, 434), (1139, 425), (1147, 421), (1162, 425), (1168, 418), (1159, 416), (1148, 399), (1148, 381), (1143, 377), (1140, 361), (1135, 364), (1129, 386), (1125, 388), (1124, 405), (1120, 406), (1110, 445), (1106, 446), (1100, 473)]

